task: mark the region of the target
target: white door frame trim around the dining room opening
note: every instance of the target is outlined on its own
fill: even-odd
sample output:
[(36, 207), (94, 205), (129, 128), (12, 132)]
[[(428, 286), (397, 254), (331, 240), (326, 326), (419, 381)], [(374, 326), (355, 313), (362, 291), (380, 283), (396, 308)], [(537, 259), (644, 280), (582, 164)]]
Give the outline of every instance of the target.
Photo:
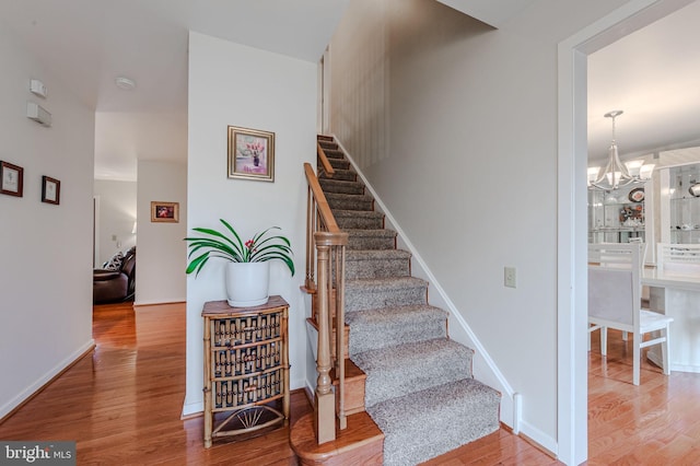
[(587, 457), (587, 56), (689, 4), (635, 0), (559, 44), (558, 49), (558, 457)]

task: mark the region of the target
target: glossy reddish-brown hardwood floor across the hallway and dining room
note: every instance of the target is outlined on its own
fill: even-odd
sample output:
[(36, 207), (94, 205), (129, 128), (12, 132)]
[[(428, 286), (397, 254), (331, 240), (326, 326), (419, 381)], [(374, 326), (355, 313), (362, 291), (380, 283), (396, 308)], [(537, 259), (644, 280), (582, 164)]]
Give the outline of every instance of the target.
[[(289, 428), (206, 450), (202, 419), (180, 420), (185, 397), (185, 306), (95, 306), (95, 350), (0, 423), (2, 440), (77, 440), (79, 465), (296, 465)], [(666, 377), (631, 361), (611, 333), (590, 356), (588, 465), (700, 464), (700, 374)], [(597, 356), (596, 356), (597, 354)], [(627, 357), (627, 359), (625, 359)], [(291, 422), (311, 411), (292, 394)], [(559, 464), (505, 430), (428, 465)]]

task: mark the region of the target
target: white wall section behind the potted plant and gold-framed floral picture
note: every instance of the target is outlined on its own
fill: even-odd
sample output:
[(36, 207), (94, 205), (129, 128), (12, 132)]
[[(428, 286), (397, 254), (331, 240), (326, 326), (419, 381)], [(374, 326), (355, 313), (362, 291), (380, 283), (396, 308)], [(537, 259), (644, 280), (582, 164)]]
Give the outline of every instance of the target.
[[(319, 57), (320, 58), (320, 57)], [(275, 132), (275, 182), (226, 177), (229, 125)], [(296, 275), (270, 268), (270, 293), (290, 303), (291, 387), (304, 386), (306, 329), (303, 163), (316, 160), (316, 63), (190, 32), (188, 232), (230, 221), (243, 236), (277, 225), (292, 242)], [(140, 234), (140, 233), (139, 233)], [(187, 279), (187, 396), (184, 413), (202, 409), (201, 310), (223, 300), (223, 264)]]

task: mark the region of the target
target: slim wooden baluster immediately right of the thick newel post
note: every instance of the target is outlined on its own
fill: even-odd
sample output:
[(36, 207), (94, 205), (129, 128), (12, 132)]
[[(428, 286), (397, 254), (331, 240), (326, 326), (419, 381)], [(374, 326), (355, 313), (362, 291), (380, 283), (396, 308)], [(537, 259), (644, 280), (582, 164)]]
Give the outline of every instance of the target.
[(336, 246), (336, 373), (338, 374), (338, 420), (340, 430), (348, 427), (348, 417), (346, 416), (346, 308), (345, 308), (345, 291), (346, 291), (346, 246), (348, 243), (348, 234), (342, 233), (345, 240), (342, 245)]

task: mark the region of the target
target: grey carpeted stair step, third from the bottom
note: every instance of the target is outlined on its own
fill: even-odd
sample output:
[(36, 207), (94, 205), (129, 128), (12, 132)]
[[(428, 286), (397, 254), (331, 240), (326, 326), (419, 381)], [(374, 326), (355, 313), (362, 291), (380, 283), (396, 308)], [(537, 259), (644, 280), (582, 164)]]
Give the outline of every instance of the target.
[(447, 338), (447, 312), (428, 304), (349, 313), (350, 357), (409, 341)]

